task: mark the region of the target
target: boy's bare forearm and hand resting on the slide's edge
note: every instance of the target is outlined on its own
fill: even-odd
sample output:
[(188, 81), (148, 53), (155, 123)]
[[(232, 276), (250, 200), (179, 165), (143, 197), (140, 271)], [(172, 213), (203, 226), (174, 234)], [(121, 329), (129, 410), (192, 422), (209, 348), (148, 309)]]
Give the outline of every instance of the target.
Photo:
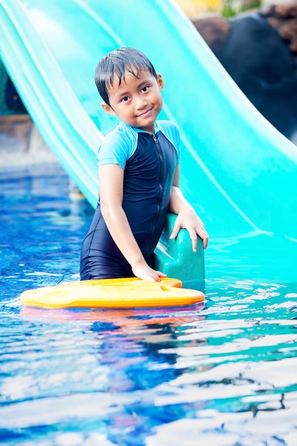
[(204, 249), (207, 249), (209, 236), (202, 219), (198, 217), (194, 208), (187, 202), (184, 195), (182, 195), (182, 191), (179, 189), (179, 165), (177, 165), (177, 169), (175, 170), (172, 183), (170, 212), (177, 214), (170, 239), (175, 239), (179, 233), (179, 229), (185, 228), (189, 232), (189, 237), (192, 239), (193, 251), (197, 251), (197, 235), (201, 237)]

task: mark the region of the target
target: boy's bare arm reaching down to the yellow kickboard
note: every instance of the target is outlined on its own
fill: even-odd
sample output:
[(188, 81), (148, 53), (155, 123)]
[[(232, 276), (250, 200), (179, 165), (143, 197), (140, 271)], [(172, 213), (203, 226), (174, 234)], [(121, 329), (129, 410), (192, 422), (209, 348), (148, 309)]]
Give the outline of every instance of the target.
[(100, 207), (111, 237), (140, 279), (159, 281), (160, 271), (150, 268), (138, 246), (123, 209), (124, 170), (118, 164), (99, 167)]

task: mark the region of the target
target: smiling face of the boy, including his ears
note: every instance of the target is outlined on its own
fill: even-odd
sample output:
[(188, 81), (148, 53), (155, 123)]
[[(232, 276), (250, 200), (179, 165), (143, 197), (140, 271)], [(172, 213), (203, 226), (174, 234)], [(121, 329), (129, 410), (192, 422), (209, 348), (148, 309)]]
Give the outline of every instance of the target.
[(113, 86), (108, 88), (110, 105), (101, 105), (107, 113), (117, 115), (123, 123), (154, 133), (155, 120), (163, 105), (163, 85), (160, 74), (157, 74), (156, 79), (147, 70), (140, 71), (138, 77), (126, 71), (120, 85), (118, 77), (115, 77)]

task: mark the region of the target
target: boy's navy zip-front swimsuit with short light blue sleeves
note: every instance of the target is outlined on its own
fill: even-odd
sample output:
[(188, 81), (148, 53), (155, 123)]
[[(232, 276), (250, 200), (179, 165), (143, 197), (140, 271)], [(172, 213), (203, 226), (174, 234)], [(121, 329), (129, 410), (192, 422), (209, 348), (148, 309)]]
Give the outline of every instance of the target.
[[(124, 170), (123, 209), (149, 264), (167, 217), (179, 156), (179, 130), (163, 120), (155, 123), (154, 135), (120, 123), (98, 150), (99, 166), (118, 164)], [(130, 264), (108, 232), (99, 199), (83, 241), (80, 280), (131, 276)]]

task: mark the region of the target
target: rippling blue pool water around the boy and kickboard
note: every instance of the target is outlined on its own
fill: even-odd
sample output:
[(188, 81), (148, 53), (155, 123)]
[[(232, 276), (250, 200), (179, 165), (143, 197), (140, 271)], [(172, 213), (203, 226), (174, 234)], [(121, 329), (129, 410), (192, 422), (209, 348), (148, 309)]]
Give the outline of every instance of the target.
[(1, 445), (297, 445), (291, 261), (271, 274), (258, 253), (247, 275), (235, 249), (231, 276), (221, 241), (197, 306), (22, 307), (24, 289), (78, 279), (93, 210), (56, 166), (0, 182)]

